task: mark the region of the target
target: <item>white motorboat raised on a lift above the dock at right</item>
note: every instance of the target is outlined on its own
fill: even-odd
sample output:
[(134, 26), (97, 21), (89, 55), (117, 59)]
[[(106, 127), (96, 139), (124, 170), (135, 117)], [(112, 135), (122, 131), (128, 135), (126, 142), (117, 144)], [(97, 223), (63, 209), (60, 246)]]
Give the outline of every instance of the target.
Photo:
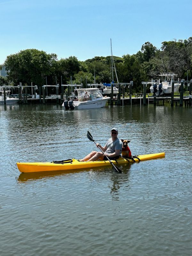
[[(172, 92), (172, 81), (174, 81), (174, 76), (177, 76), (174, 73), (160, 73), (161, 77), (165, 77), (164, 81), (162, 81), (160, 83), (160, 79), (159, 82), (152, 82), (151, 86), (150, 86), (150, 91), (151, 93), (153, 93), (154, 95), (164, 95), (164, 94), (171, 94)], [(174, 92), (178, 92), (179, 91), (179, 87), (181, 86), (181, 83), (175, 83), (174, 84)], [(154, 93), (154, 89), (155, 89), (155, 93)]]

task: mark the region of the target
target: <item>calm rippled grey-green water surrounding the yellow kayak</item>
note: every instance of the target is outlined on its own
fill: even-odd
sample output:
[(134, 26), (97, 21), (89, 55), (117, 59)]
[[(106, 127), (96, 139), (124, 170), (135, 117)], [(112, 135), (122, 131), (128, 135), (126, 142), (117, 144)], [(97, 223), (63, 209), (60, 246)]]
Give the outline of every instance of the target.
[[(191, 255), (192, 108), (66, 111), (0, 106), (2, 256)], [(132, 154), (163, 159), (73, 172), (20, 173), (15, 163), (82, 158), (110, 129)]]

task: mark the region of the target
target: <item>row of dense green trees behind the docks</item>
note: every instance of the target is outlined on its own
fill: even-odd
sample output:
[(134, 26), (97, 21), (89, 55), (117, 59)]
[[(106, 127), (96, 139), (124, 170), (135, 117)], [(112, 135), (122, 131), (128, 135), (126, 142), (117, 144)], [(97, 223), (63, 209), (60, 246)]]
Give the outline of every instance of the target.
[[(157, 49), (150, 42), (141, 46), (141, 50), (133, 55), (113, 56), (118, 81), (129, 83), (133, 81), (133, 92), (142, 91), (141, 81), (159, 79), (162, 72), (173, 72), (180, 79), (192, 78), (192, 37), (185, 40), (162, 42)], [(42, 86), (44, 84), (73, 84), (86, 82), (110, 83), (111, 56), (94, 57), (79, 61), (75, 56), (58, 60), (55, 53), (47, 54), (36, 49), (22, 50), (7, 56), (5, 67), (8, 77), (0, 77), (0, 85), (11, 82), (17, 85)], [(116, 76), (114, 81), (117, 83)]]

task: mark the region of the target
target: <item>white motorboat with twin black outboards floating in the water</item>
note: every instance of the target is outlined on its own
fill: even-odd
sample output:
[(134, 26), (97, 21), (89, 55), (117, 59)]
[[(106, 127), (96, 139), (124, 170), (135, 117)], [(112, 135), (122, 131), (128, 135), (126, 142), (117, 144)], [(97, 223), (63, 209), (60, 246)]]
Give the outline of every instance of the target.
[[(65, 109), (90, 109), (90, 108), (103, 108), (105, 107), (110, 97), (103, 96), (101, 91), (97, 88), (80, 88), (74, 90), (77, 97), (71, 100), (64, 100), (62, 107)], [(87, 92), (88, 98), (85, 99), (84, 95)], [(76, 99), (75, 99), (76, 98)]]

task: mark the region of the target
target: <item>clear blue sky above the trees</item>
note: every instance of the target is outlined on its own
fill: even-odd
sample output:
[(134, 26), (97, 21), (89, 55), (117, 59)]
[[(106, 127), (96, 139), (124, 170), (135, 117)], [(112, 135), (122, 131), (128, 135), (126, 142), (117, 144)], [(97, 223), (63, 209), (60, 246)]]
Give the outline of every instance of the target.
[(192, 36), (191, 0), (0, 0), (0, 64), (24, 49), (58, 59), (137, 53)]

